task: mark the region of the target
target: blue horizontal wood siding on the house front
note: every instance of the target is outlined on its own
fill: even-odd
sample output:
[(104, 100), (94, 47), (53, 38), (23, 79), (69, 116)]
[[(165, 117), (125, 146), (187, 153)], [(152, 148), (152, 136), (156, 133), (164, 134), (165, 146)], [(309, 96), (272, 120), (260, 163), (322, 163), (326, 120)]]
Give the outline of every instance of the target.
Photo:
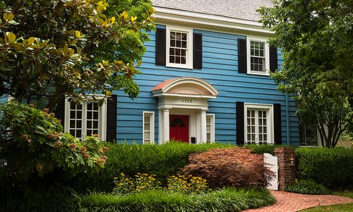
[[(164, 28), (164, 26), (157, 26)], [(155, 112), (155, 140), (158, 132), (157, 100), (150, 92), (154, 86), (169, 78), (193, 76), (203, 78), (211, 83), (220, 94), (209, 100), (210, 114), (215, 114), (215, 140), (217, 142), (232, 142), (236, 140), (236, 102), (281, 104), (282, 143), (287, 143), (287, 120), (285, 95), (277, 90), (273, 79), (269, 76), (256, 76), (238, 73), (238, 38), (242, 35), (216, 33), (205, 30), (193, 30), (203, 35), (203, 69), (177, 69), (155, 65), (155, 33), (150, 33), (150, 42), (145, 44), (146, 53), (143, 72), (136, 76), (140, 86), (140, 95), (135, 100), (129, 99), (121, 90), (114, 91), (118, 95), (117, 109), (117, 141), (142, 143), (143, 111)], [(282, 64), (282, 53), (278, 52), (279, 64)], [(294, 146), (299, 146), (299, 124), (294, 112), (297, 109), (289, 100), (289, 138)]]

